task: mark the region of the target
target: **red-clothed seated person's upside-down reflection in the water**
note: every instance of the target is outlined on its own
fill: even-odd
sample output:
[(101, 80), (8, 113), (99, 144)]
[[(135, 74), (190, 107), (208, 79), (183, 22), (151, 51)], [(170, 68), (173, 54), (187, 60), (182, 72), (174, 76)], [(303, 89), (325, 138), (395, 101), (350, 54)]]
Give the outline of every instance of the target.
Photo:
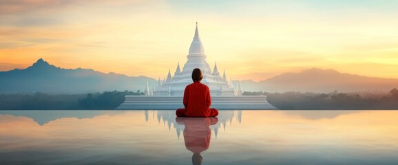
[(211, 139), (210, 125), (217, 124), (218, 118), (183, 118), (177, 117), (178, 124), (184, 124), (185, 147), (193, 153), (192, 164), (202, 164), (202, 153), (209, 148)]

